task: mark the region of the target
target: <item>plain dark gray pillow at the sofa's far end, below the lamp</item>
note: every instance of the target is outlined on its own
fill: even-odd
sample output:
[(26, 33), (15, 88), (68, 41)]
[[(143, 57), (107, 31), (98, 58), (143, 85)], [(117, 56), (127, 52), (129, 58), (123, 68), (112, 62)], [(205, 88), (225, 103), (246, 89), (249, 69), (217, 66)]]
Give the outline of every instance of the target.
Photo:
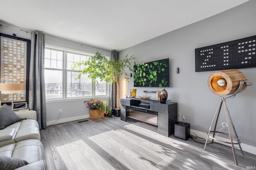
[(0, 130), (18, 121), (20, 121), (20, 117), (9, 106), (6, 104), (0, 106)]

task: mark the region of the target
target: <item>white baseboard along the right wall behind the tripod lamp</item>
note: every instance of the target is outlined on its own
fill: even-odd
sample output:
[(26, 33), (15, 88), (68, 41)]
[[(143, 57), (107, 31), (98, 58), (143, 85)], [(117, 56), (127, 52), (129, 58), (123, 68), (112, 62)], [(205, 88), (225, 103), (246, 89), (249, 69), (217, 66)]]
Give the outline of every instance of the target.
[[(207, 138), (207, 133), (204, 133), (204, 132), (200, 132), (200, 131), (190, 129), (190, 133), (195, 133), (198, 137)], [(222, 141), (230, 141), (229, 139), (226, 139), (226, 138), (223, 138), (223, 137), (218, 137), (218, 136), (216, 137), (216, 139), (220, 139)], [(217, 142), (217, 141), (214, 141), (214, 142)], [(221, 143), (221, 144), (231, 146), (231, 144), (226, 144), (226, 143)], [(241, 143), (240, 145), (242, 147), (242, 150), (256, 155), (256, 147), (253, 147), (251, 145), (247, 145), (247, 144), (244, 144), (244, 143)], [(237, 148), (237, 149), (240, 149), (240, 148)]]

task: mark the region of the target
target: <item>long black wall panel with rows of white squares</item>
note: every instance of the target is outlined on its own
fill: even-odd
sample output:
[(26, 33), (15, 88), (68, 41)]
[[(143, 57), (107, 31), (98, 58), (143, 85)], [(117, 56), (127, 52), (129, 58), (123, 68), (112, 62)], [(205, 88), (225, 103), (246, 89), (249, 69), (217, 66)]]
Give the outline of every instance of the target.
[(256, 35), (195, 49), (196, 72), (256, 67)]

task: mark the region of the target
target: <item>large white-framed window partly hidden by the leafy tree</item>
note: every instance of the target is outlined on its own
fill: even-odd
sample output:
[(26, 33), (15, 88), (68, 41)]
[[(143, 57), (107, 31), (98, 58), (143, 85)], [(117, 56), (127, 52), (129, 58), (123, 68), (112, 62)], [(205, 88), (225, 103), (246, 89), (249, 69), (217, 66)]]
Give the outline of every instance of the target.
[(107, 96), (108, 83), (98, 80), (99, 83), (95, 86), (86, 74), (77, 78), (80, 73), (79, 68), (71, 70), (74, 64), (87, 61), (89, 58), (90, 55), (87, 54), (46, 47), (44, 56), (46, 99)]

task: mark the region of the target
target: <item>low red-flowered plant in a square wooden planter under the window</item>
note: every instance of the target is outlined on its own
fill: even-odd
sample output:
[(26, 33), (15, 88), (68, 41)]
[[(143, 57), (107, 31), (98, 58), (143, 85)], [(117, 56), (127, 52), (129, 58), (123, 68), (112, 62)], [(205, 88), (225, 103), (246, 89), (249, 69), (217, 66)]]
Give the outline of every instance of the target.
[(98, 99), (90, 99), (87, 102), (86, 108), (90, 109), (90, 119), (97, 119), (104, 117), (106, 104)]

